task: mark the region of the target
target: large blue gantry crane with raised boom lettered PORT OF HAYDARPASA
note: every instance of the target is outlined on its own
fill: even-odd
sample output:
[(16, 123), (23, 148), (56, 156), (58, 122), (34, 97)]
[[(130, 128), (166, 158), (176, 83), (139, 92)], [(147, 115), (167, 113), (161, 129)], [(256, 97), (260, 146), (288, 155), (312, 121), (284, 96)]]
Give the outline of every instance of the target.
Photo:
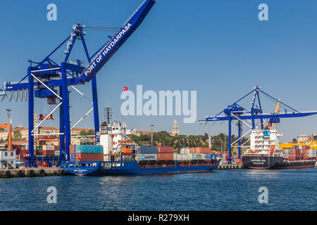
[[(5, 98), (8, 101), (15, 99), (15, 101), (28, 101), (28, 141), (29, 141), (29, 157), (27, 158), (27, 165), (35, 165), (34, 156), (34, 136), (36, 130), (42, 123), (49, 119), (52, 113), (59, 109), (59, 135), (60, 138), (60, 156), (58, 158), (47, 157), (44, 160), (58, 160), (68, 161), (69, 146), (70, 146), (70, 130), (73, 129), (80, 121), (82, 121), (89, 113), (94, 112), (94, 130), (96, 142), (98, 143), (99, 132), (99, 112), (98, 112), (98, 97), (97, 97), (97, 72), (104, 66), (104, 64), (113, 56), (116, 51), (123, 45), (123, 43), (135, 32), (137, 27), (142, 23), (156, 0), (144, 0), (134, 13), (126, 20), (118, 32), (111, 37), (106, 44), (92, 56), (89, 55), (87, 45), (85, 43), (85, 25), (77, 23), (73, 25), (73, 31), (60, 45), (54, 49), (48, 56), (38, 62), (29, 60), (30, 66), (27, 68), (27, 75), (20, 80), (20, 82), (5, 82), (4, 89), (0, 90), (0, 101)], [(73, 49), (76, 40), (82, 42), (83, 49), (89, 65), (84, 67), (82, 61), (68, 62), (68, 58)], [(56, 63), (51, 59), (51, 56), (56, 53), (58, 49), (66, 45), (66, 54), (63, 62)], [(69, 93), (68, 86), (83, 94), (75, 87), (77, 85), (92, 82), (92, 109), (89, 110), (84, 117), (76, 122), (73, 127), (70, 127), (70, 113), (69, 113)], [(10, 97), (9, 97), (10, 96)], [(56, 107), (44, 117), (44, 120), (34, 126), (34, 106), (35, 98), (47, 98), (47, 103), (56, 105)]]

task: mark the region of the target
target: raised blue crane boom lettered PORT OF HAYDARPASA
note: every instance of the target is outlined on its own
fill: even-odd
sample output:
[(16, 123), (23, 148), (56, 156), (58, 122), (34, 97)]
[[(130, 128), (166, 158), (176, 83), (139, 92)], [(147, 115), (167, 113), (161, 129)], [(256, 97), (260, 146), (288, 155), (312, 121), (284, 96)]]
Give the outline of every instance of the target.
[(94, 59), (91, 60), (90, 64), (80, 75), (82, 82), (89, 82), (97, 74), (111, 56), (116, 53), (120, 46), (139, 27), (155, 2), (156, 0), (144, 0), (142, 2), (137, 10), (128, 18), (127, 22), (124, 23), (123, 27), (120, 28), (118, 33), (95, 54)]

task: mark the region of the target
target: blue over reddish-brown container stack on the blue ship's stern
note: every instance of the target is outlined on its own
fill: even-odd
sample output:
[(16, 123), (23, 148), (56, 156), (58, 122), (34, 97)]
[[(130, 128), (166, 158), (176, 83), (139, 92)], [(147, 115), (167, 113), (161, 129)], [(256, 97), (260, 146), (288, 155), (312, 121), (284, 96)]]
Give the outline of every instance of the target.
[(75, 146), (75, 161), (103, 161), (102, 146)]

